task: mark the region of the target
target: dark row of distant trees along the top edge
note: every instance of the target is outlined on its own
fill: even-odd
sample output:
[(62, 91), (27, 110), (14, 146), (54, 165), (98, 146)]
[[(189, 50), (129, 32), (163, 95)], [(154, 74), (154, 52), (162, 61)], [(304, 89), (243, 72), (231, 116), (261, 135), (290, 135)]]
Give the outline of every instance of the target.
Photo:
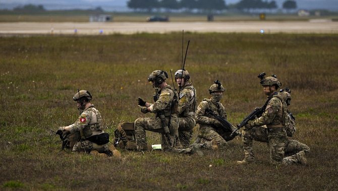
[[(198, 12), (212, 13), (228, 9), (224, 0), (130, 0), (127, 2), (127, 7), (136, 12), (152, 12), (156, 9), (164, 9), (167, 12), (175, 10), (191, 12), (192, 10), (197, 10)], [(262, 0), (241, 0), (231, 7), (243, 12), (278, 8), (275, 1)], [(292, 10), (296, 8), (297, 4), (294, 0), (287, 0), (283, 4), (283, 9)]]

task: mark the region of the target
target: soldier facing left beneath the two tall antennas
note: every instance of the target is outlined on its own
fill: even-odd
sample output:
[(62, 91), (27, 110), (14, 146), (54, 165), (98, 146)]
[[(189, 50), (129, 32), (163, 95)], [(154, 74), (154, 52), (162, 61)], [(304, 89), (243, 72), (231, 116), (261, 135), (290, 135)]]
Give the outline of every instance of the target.
[(179, 86), (179, 136), (176, 145), (182, 144), (183, 148), (190, 145), (193, 128), (196, 125), (195, 111), (197, 109), (197, 94), (187, 70), (180, 69), (175, 73), (175, 81)]

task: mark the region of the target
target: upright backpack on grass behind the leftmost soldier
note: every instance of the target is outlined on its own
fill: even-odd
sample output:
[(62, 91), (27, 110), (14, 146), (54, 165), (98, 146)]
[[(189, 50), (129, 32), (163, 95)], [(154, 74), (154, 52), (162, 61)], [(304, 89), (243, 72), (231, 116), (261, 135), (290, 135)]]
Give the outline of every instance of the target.
[(137, 150), (134, 122), (120, 123), (114, 133), (115, 147), (127, 150)]

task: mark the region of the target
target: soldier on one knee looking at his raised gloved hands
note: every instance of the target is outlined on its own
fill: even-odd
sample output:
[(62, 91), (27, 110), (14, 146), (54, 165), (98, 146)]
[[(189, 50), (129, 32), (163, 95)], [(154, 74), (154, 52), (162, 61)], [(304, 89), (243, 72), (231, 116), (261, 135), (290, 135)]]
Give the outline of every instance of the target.
[(140, 117), (134, 122), (135, 139), (138, 150), (149, 150), (146, 140), (145, 130), (161, 133), (162, 150), (173, 150), (175, 143), (175, 135), (179, 129), (177, 118), (178, 95), (175, 89), (166, 84), (167, 74), (165, 71), (155, 70), (149, 77), (148, 81), (153, 87), (160, 91), (156, 91), (155, 103), (148, 103), (138, 98), (138, 104), (143, 106), (143, 113), (155, 113), (155, 117)]

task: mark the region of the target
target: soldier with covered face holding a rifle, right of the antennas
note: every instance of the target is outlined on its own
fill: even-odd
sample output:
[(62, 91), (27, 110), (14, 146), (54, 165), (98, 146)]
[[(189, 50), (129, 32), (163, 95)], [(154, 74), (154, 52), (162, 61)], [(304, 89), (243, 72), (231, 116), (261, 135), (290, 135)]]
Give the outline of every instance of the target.
[(237, 134), (239, 135), (239, 133), (236, 133), (235, 135), (230, 136), (236, 128), (233, 126), (231, 131), (224, 130), (221, 122), (207, 112), (207, 110), (209, 110), (214, 114), (227, 119), (226, 109), (222, 103), (219, 102), (225, 90), (226, 89), (224, 89), (217, 80), (209, 88), (211, 98), (203, 99), (203, 101), (199, 103), (195, 114), (196, 123), (199, 124), (197, 129), (198, 137), (194, 144), (208, 144), (209, 146), (205, 148), (223, 147), (227, 145), (227, 141), (234, 139)]

